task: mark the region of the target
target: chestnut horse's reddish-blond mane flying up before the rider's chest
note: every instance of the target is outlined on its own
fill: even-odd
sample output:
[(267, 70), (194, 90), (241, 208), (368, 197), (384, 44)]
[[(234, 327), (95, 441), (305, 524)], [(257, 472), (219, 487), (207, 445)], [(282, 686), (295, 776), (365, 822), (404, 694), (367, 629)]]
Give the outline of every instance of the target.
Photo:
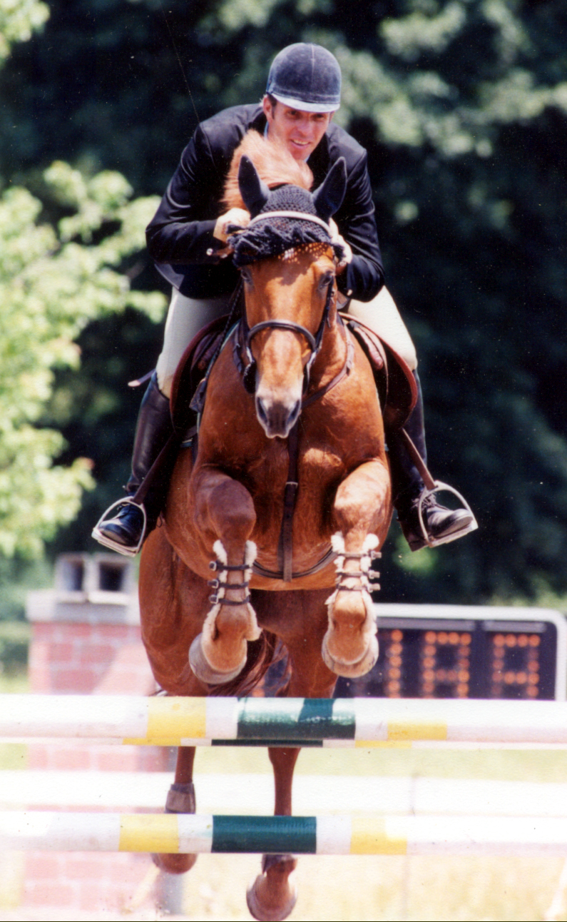
[(306, 163), (294, 160), (286, 148), (267, 137), (259, 135), (252, 129), (243, 136), (238, 148), (232, 155), (230, 169), (224, 186), (221, 206), (227, 208), (244, 208), (242, 195), (238, 187), (238, 168), (242, 154), (253, 161), (260, 179), (268, 188), (277, 185), (299, 185), (301, 189), (311, 189), (313, 173)]

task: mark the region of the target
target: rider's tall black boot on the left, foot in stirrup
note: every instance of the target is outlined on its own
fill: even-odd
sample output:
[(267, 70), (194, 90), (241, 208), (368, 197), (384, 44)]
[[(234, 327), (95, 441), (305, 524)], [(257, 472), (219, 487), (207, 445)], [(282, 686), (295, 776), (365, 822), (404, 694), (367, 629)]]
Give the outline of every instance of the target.
[[(134, 453), (132, 455), (132, 475), (125, 491), (133, 497), (148, 474), (149, 468), (168, 441), (173, 427), (169, 398), (159, 390), (156, 372), (153, 373), (144, 395), (136, 423)], [(141, 547), (143, 538), (155, 528), (163, 502), (165, 484), (159, 476), (152, 483), (146, 494), (143, 507), (132, 502), (113, 503), (93, 529), (92, 537), (107, 548), (133, 557)], [(107, 519), (113, 513), (112, 518)]]

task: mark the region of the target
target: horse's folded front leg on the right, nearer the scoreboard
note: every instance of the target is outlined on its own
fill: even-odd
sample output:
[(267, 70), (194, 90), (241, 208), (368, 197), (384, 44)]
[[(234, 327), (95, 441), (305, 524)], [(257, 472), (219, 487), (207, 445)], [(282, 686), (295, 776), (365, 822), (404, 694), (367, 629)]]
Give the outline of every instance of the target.
[(391, 517), (390, 478), (382, 461), (360, 465), (337, 490), (337, 588), (327, 600), (328, 629), (322, 654), (337, 676), (356, 677), (372, 669), (378, 639), (369, 582), (372, 551), (381, 547)]

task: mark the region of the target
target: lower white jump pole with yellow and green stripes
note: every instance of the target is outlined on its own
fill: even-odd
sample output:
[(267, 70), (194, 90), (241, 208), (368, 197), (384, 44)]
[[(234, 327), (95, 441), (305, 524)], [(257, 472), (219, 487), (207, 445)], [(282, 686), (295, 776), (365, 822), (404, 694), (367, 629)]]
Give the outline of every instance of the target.
[(562, 819), (443, 816), (198, 816), (0, 813), (0, 847), (303, 855), (567, 856)]

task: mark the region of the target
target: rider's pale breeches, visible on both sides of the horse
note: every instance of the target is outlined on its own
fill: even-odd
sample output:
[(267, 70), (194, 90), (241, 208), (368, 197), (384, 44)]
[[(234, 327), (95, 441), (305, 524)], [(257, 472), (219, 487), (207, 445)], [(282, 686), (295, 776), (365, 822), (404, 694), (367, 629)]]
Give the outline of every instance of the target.
[[(173, 289), (165, 324), (163, 348), (156, 366), (159, 390), (162, 394), (171, 396), (173, 375), (183, 352), (203, 326), (227, 312), (228, 301), (228, 297), (201, 300), (186, 298)], [(415, 346), (387, 289), (383, 288), (367, 303), (350, 301), (348, 313), (383, 337), (392, 349), (408, 362), (412, 372), (415, 371), (418, 366)]]

